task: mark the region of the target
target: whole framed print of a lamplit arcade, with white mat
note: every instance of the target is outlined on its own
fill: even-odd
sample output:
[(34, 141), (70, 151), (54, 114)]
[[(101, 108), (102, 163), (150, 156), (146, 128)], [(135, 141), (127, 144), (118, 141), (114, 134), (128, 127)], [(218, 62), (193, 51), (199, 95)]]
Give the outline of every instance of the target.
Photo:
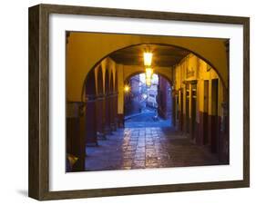
[(250, 19), (29, 8), (29, 196), (250, 185)]

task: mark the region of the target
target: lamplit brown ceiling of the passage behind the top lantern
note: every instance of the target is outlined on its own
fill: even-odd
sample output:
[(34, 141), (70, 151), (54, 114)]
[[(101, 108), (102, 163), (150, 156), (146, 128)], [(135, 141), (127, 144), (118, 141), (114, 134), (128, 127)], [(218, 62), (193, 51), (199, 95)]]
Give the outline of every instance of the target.
[(126, 65), (144, 65), (143, 53), (153, 53), (152, 66), (169, 67), (180, 62), (189, 51), (170, 45), (140, 44), (118, 50), (110, 54), (116, 63)]

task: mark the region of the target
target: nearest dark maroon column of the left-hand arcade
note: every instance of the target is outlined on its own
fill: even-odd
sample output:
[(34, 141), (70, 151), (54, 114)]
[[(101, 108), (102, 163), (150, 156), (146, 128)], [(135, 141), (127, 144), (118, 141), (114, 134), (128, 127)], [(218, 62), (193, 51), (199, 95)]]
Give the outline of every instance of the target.
[(96, 95), (87, 95), (86, 142), (87, 146), (97, 146)]

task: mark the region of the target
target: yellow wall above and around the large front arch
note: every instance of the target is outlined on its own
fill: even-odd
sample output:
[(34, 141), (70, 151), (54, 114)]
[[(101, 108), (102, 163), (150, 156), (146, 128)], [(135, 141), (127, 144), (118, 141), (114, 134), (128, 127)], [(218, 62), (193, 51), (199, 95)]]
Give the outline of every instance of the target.
[[(228, 85), (228, 69), (224, 40), (152, 36), (137, 34), (70, 33), (67, 44), (67, 101), (81, 101), (87, 73), (104, 57), (133, 44), (172, 44), (200, 54), (218, 70)], [(113, 66), (113, 68), (114, 66)]]

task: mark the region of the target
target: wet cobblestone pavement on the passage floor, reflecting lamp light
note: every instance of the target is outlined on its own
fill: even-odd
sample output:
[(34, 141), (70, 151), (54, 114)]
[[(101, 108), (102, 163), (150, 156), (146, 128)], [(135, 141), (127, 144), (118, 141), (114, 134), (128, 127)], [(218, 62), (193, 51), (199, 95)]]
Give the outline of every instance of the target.
[(169, 128), (118, 129), (97, 147), (87, 147), (86, 171), (219, 164), (205, 147)]

